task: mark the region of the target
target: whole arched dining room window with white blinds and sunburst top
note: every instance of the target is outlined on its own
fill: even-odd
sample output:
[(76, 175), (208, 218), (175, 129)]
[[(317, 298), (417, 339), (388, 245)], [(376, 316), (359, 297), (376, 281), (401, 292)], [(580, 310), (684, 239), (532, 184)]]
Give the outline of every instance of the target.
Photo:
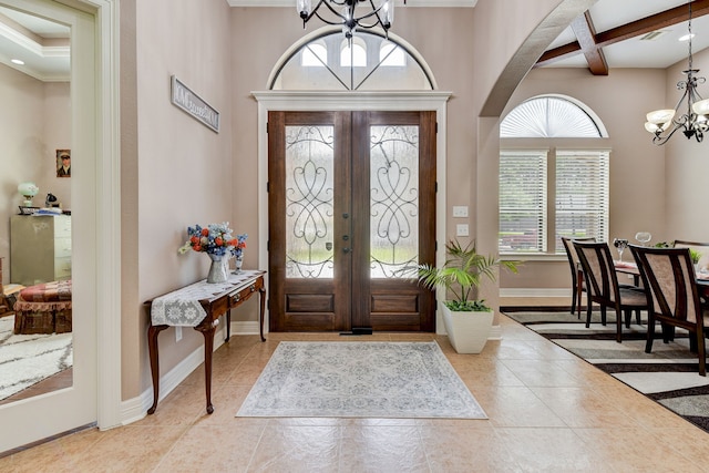
[[(607, 136), (589, 107), (562, 95), (526, 100), (504, 117), (501, 254), (561, 254), (561, 237), (608, 239)], [(563, 142), (556, 140), (562, 137)], [(600, 142), (589, 146), (589, 138)]]

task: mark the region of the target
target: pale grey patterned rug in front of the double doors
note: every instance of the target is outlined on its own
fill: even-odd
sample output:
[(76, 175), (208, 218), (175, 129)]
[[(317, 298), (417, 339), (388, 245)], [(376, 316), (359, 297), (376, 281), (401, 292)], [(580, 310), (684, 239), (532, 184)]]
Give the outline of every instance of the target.
[(236, 415), (487, 419), (435, 342), (281, 341)]

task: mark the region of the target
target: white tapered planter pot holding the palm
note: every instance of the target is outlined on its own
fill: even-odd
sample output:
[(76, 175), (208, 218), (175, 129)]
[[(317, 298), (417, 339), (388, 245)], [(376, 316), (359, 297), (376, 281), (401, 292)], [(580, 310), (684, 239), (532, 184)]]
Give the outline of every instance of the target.
[(448, 338), (455, 351), (480, 353), (490, 337), (495, 312), (453, 312), (442, 302), (441, 311)]

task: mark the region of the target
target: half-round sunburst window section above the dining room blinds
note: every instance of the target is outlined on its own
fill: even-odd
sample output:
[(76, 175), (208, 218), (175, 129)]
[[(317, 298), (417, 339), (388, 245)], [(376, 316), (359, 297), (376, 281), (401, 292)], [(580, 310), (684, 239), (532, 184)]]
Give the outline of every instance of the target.
[(500, 124), (501, 138), (607, 136), (599, 120), (572, 100), (556, 95), (522, 102)]

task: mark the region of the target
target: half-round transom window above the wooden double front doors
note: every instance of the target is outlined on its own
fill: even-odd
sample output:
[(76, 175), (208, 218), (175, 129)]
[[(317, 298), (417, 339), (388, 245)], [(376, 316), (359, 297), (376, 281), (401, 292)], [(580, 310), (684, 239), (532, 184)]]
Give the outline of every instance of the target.
[(281, 56), (271, 72), (268, 88), (300, 91), (436, 89), (433, 74), (421, 55), (394, 33), (390, 32), (387, 39), (376, 30), (358, 31), (352, 45), (350, 50), (341, 28), (323, 27), (314, 31)]

